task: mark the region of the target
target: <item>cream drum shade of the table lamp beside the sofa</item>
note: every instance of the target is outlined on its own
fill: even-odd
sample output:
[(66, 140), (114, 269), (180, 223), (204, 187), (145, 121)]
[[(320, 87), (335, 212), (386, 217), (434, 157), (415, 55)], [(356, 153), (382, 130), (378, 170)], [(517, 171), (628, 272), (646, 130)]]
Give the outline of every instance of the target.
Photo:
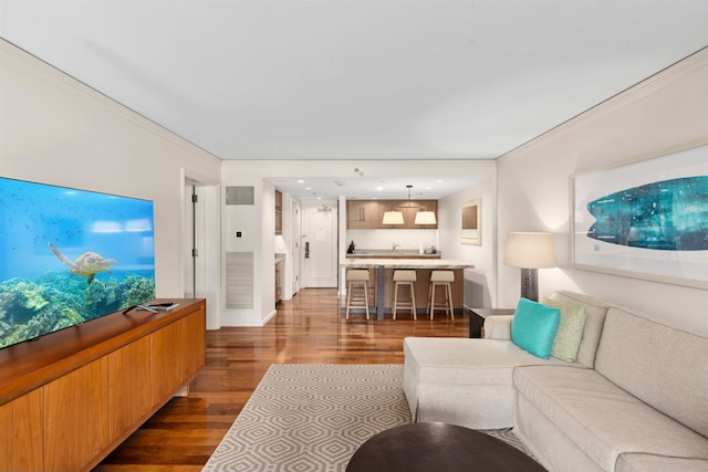
[(555, 268), (553, 234), (509, 233), (504, 264), (522, 269)]

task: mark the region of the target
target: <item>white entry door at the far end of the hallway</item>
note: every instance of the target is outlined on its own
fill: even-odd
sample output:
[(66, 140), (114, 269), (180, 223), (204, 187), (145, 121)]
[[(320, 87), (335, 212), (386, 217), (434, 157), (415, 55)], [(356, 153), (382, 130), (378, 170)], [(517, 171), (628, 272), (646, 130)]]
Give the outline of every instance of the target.
[(302, 206), (302, 286), (337, 286), (336, 203)]

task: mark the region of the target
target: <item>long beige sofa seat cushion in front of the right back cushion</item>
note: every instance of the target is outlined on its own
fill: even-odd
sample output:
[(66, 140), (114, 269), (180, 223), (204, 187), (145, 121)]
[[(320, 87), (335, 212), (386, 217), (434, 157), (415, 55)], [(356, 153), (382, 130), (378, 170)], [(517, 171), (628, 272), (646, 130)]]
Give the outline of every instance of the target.
[(708, 459), (708, 439), (655, 410), (600, 375), (565, 366), (514, 369), (527, 398), (603, 470), (620, 454), (644, 452)]

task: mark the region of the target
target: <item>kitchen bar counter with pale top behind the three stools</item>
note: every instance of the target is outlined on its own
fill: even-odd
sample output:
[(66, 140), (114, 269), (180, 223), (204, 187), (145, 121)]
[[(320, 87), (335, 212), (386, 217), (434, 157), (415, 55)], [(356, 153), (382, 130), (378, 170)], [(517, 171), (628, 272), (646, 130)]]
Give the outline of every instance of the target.
[[(376, 319), (384, 319), (386, 313), (392, 312), (394, 271), (407, 269), (416, 271), (416, 314), (426, 315), (428, 305), (428, 287), (430, 284), (430, 273), (433, 271), (454, 271), (455, 282), (452, 283), (452, 307), (456, 315), (462, 315), (462, 287), (465, 269), (473, 269), (475, 265), (468, 262), (454, 259), (346, 259), (342, 263), (345, 269), (367, 269), (371, 273), (369, 281), (373, 282), (376, 301)], [(405, 290), (405, 289), (404, 289)], [(406, 293), (407, 295), (407, 293)], [(437, 296), (436, 296), (437, 297)], [(369, 302), (371, 303), (371, 302)], [(402, 311), (404, 316), (409, 311)], [(444, 316), (437, 311), (436, 316)]]

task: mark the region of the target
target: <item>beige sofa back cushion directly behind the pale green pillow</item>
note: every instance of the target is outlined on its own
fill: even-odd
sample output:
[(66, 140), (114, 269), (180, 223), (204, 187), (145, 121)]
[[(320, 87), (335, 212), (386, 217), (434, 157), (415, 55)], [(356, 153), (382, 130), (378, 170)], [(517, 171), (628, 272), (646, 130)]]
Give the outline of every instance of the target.
[(605, 315), (610, 304), (580, 293), (559, 291), (551, 294), (551, 298), (580, 305), (585, 313), (585, 327), (583, 328), (583, 339), (577, 348), (577, 361), (584, 366), (593, 368), (595, 366), (595, 353), (600, 344), (600, 336), (605, 324)]

